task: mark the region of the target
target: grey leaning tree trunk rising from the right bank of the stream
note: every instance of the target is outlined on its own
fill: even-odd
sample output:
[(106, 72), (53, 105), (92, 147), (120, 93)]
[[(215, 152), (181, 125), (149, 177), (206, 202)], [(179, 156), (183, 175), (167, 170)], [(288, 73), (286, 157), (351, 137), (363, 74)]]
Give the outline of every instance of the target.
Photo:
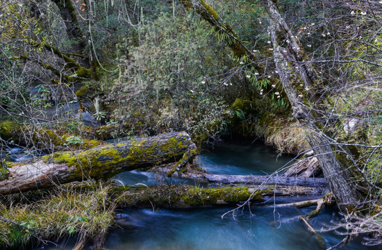
[[(302, 49), (297, 44), (294, 36), (290, 32), (288, 25), (279, 13), (275, 1), (268, 0), (269, 14), (271, 17), (271, 38), (274, 51), (274, 62), (276, 69), (279, 72), (281, 83), (285, 93), (288, 96), (290, 104), (293, 109), (293, 116), (297, 118), (301, 124), (308, 128), (311, 133), (308, 135), (310, 147), (315, 152), (315, 156), (322, 167), (324, 176), (329, 182), (331, 191), (338, 202), (342, 213), (349, 213), (348, 208), (359, 205), (365, 199), (363, 194), (358, 190), (355, 176), (351, 173), (350, 166), (346, 166), (346, 156), (340, 153), (335, 153), (331, 147), (330, 138), (324, 135), (319, 127), (324, 127), (320, 122), (317, 122), (315, 117), (319, 116), (319, 110), (315, 113), (314, 109), (310, 109), (309, 101), (317, 101), (313, 81), (308, 75), (307, 63), (301, 61), (299, 53), (303, 53)], [(281, 47), (281, 42), (288, 40), (287, 47)], [(299, 83), (290, 79), (292, 76), (292, 69), (289, 62), (294, 62), (297, 67), (297, 73), (304, 81), (305, 88), (299, 90)], [(304, 66), (304, 67), (301, 67)], [(308, 92), (304, 92), (307, 90)], [(317, 109), (316, 109), (317, 110)], [(338, 158), (344, 160), (338, 160)]]

